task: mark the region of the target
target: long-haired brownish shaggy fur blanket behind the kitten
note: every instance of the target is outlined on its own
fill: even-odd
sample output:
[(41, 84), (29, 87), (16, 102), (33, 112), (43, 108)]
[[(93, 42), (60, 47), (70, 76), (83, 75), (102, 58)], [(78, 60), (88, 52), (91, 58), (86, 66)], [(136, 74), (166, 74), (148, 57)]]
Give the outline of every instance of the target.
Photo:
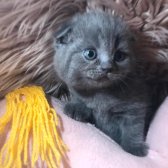
[(168, 0), (1, 0), (0, 98), (36, 83), (57, 97), (64, 91), (52, 68), (52, 33), (77, 12), (103, 9), (120, 15), (142, 42), (143, 57), (168, 58)]

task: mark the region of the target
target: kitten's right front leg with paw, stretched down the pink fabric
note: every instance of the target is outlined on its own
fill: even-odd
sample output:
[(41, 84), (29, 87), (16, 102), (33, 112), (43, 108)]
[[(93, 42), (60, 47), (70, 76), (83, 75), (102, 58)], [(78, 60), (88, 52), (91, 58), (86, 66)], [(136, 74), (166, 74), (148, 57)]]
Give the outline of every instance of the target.
[[(135, 112), (135, 111), (134, 111)], [(145, 156), (148, 147), (144, 142), (144, 117), (138, 112), (129, 114), (125, 111), (110, 109), (101, 120), (97, 122), (97, 127), (115, 140), (125, 151), (136, 155)]]

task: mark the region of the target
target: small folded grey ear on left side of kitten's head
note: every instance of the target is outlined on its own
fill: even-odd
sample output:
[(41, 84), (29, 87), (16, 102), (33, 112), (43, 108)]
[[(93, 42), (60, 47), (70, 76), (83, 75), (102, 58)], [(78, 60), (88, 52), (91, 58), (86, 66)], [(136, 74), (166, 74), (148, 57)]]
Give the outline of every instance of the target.
[(70, 34), (72, 27), (69, 22), (64, 23), (58, 31), (54, 34), (56, 44), (68, 44), (71, 41)]

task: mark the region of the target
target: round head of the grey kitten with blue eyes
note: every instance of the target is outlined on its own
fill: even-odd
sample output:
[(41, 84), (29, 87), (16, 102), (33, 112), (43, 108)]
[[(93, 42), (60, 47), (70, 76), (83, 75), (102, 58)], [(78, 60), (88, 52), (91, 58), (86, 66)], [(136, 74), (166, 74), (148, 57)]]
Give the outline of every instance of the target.
[(54, 38), (54, 67), (69, 87), (109, 87), (132, 71), (133, 36), (116, 16), (104, 12), (77, 15)]

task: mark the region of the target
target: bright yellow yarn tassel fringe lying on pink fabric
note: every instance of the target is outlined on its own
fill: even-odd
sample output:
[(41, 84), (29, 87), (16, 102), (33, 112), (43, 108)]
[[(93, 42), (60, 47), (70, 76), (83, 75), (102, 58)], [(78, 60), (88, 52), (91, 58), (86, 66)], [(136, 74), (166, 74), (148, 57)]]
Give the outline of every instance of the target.
[(42, 88), (17, 89), (6, 95), (6, 101), (0, 135), (7, 125), (11, 128), (0, 151), (0, 168), (34, 168), (38, 159), (48, 168), (60, 167), (67, 147), (57, 131), (56, 112), (49, 106)]

